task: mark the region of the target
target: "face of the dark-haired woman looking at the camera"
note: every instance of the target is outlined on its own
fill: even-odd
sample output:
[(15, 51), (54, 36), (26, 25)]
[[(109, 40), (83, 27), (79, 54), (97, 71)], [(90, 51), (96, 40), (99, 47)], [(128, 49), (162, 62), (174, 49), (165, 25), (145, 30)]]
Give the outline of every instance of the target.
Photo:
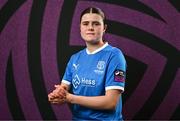
[(106, 27), (103, 18), (95, 13), (86, 13), (81, 18), (80, 31), (81, 37), (87, 43), (96, 44), (102, 40)]

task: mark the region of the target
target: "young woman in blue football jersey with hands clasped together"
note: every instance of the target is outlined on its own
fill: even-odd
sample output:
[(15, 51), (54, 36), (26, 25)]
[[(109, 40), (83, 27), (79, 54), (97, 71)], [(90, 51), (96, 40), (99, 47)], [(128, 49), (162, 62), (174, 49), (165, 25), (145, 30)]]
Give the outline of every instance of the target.
[(103, 40), (106, 28), (101, 9), (82, 12), (80, 33), (87, 48), (71, 56), (61, 84), (48, 95), (51, 103), (72, 104), (73, 120), (123, 120), (126, 60)]

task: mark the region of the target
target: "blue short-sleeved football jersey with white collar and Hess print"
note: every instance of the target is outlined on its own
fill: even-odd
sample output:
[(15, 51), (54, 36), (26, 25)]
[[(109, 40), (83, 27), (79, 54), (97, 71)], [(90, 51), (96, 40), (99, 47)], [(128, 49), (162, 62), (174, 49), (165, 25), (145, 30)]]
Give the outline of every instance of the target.
[[(90, 53), (87, 49), (71, 56), (63, 83), (71, 85), (72, 93), (81, 96), (100, 96), (110, 89), (124, 91), (126, 60), (122, 52), (106, 43)], [(95, 110), (74, 104), (74, 120), (121, 120), (122, 98), (115, 110)]]

